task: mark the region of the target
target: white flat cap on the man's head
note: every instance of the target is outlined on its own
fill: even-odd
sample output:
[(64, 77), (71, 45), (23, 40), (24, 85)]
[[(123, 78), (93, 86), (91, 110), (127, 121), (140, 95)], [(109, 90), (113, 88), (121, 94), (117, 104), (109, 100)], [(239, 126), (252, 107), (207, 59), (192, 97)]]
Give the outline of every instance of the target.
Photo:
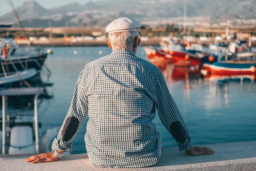
[[(124, 32), (124, 31), (139, 31), (141, 23), (133, 18), (121, 17), (112, 21), (106, 27), (107, 33)], [(139, 31), (141, 35), (141, 32)]]

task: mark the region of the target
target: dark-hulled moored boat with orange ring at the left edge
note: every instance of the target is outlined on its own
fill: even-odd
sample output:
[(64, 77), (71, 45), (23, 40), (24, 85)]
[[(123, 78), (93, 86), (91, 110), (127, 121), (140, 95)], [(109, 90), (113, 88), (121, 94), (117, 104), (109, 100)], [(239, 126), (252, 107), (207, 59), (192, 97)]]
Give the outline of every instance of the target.
[(43, 83), (40, 72), (45, 69), (48, 53), (38, 47), (19, 47), (12, 38), (0, 38), (0, 87), (22, 87)]

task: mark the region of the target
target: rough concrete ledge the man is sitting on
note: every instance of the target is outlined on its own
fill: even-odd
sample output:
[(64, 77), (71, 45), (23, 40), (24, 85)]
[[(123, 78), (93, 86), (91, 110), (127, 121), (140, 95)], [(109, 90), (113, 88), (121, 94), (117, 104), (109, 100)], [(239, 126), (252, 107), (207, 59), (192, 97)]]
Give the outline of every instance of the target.
[(1, 171), (256, 171), (256, 141), (204, 144), (214, 155), (189, 156), (177, 147), (162, 149), (161, 162), (153, 167), (132, 169), (99, 168), (87, 154), (65, 155), (58, 162), (30, 164), (24, 159), (0, 160)]

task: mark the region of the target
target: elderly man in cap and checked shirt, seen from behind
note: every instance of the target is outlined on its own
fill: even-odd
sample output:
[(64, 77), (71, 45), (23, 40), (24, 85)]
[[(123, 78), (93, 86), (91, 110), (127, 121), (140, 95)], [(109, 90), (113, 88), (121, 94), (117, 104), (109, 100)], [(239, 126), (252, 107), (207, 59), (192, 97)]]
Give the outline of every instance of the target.
[(158, 112), (179, 149), (188, 155), (213, 154), (207, 147), (193, 147), (189, 131), (168, 91), (161, 71), (135, 56), (140, 22), (118, 18), (106, 27), (112, 53), (85, 65), (52, 149), (26, 162), (57, 161), (72, 147), (72, 140), (88, 114), (85, 145), (95, 166), (148, 167), (159, 163), (162, 140), (153, 119)]

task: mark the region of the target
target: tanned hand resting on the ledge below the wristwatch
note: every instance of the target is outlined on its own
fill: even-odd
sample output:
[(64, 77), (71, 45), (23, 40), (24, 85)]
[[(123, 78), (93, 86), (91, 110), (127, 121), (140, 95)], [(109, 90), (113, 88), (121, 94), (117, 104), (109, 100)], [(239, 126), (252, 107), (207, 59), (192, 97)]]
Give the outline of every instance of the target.
[(58, 159), (59, 158), (56, 155), (52, 154), (52, 152), (48, 152), (48, 153), (36, 154), (29, 158), (26, 158), (25, 162), (31, 162), (32, 164), (34, 164), (34, 163), (42, 163), (42, 162), (56, 162), (58, 161)]

